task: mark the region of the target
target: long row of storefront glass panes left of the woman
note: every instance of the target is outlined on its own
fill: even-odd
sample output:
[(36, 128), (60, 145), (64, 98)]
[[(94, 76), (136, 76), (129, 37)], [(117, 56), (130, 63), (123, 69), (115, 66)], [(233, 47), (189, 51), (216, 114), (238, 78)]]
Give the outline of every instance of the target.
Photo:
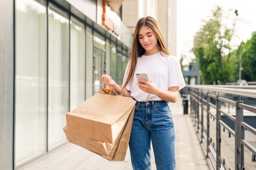
[(15, 2), (14, 155), (20, 167), (67, 142), (65, 113), (99, 92), (102, 74), (122, 83), (127, 50), (45, 0)]

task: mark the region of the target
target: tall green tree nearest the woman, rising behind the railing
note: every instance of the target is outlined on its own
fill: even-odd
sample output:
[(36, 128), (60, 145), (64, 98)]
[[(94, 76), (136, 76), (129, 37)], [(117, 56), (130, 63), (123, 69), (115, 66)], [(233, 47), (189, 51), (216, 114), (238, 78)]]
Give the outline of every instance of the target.
[(229, 28), (222, 24), (222, 19), (222, 9), (217, 6), (194, 37), (192, 51), (199, 61), (202, 84), (224, 84), (231, 75), (229, 57), (226, 61), (223, 61), (223, 57), (231, 50), (235, 21)]

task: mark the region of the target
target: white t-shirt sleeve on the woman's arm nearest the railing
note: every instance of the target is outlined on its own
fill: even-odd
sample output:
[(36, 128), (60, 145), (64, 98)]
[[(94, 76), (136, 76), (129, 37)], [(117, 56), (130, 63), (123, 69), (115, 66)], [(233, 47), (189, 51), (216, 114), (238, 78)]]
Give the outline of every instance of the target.
[(182, 71), (180, 68), (179, 60), (171, 56), (172, 58), (169, 60), (169, 70), (168, 70), (168, 85), (169, 87), (179, 86), (179, 90), (186, 86)]

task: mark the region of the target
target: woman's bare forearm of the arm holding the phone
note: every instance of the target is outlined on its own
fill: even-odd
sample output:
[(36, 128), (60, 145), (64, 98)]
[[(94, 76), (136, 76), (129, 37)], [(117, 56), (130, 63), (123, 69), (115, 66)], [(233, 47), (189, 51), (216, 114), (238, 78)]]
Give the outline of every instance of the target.
[(178, 98), (178, 92), (179, 91), (170, 91), (170, 90), (166, 91), (166, 90), (158, 89), (155, 95), (167, 102), (175, 103)]

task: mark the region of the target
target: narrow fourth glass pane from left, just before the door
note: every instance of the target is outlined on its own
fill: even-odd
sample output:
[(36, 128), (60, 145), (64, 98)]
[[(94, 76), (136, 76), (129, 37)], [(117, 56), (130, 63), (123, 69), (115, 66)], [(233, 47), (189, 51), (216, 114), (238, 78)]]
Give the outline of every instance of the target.
[(93, 81), (93, 44), (92, 44), (92, 28), (86, 27), (86, 99), (92, 97), (92, 81)]

